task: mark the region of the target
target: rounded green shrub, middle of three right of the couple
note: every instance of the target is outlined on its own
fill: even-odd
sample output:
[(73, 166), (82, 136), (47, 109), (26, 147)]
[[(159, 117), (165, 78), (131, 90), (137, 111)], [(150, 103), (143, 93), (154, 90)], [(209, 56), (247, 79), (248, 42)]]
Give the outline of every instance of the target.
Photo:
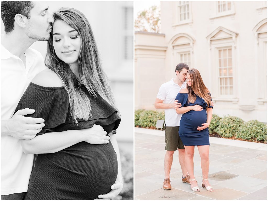
[(236, 137), (239, 132), (239, 128), (244, 123), (243, 119), (234, 116), (225, 116), (219, 121), (219, 126), (217, 128), (217, 133), (222, 137)]

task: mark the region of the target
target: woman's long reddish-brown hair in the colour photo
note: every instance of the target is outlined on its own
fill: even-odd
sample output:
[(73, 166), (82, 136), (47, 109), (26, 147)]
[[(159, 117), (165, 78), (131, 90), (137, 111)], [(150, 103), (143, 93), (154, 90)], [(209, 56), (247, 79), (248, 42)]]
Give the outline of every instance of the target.
[(194, 103), (196, 100), (196, 95), (203, 98), (208, 106), (210, 106), (211, 103), (211, 96), (209, 94), (209, 89), (205, 86), (202, 77), (197, 69), (189, 69), (187, 70), (187, 73), (189, 73), (190, 77), (192, 78), (192, 84), (191, 87), (187, 84), (188, 89), (188, 104)]

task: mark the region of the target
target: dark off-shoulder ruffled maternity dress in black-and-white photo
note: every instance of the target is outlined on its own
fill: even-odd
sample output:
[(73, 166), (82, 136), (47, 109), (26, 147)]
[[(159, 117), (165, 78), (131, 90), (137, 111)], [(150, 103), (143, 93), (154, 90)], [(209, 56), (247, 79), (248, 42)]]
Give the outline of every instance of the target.
[[(78, 119), (78, 126), (70, 115), (69, 98), (63, 87), (42, 87), (30, 83), (16, 111), (35, 109), (26, 115), (45, 120), (38, 133), (60, 132), (101, 125), (109, 134), (121, 121), (116, 109), (103, 98), (92, 98), (91, 118)], [(16, 112), (15, 111), (15, 112)], [(55, 133), (57, 135), (57, 133)], [(56, 153), (38, 154), (31, 173), (26, 200), (91, 200), (109, 193), (117, 178), (118, 162), (111, 142), (93, 145), (80, 142)]]

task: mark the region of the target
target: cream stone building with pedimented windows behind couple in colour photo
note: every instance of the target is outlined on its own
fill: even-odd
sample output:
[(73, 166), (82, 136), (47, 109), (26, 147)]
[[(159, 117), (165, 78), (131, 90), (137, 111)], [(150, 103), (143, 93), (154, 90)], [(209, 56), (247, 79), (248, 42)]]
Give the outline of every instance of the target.
[(161, 33), (135, 32), (135, 109), (154, 109), (183, 62), (200, 71), (213, 113), (267, 123), (267, 2), (167, 1), (160, 11)]

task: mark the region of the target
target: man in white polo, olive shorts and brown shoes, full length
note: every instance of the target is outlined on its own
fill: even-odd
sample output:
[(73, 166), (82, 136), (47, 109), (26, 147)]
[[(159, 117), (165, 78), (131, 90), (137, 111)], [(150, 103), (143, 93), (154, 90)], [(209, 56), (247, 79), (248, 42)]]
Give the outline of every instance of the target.
[(169, 174), (175, 150), (179, 152), (179, 162), (183, 173), (182, 182), (190, 184), (190, 177), (184, 164), (185, 149), (178, 134), (182, 114), (177, 114), (176, 109), (181, 106), (181, 103), (175, 100), (178, 92), (186, 88), (187, 70), (189, 70), (187, 64), (179, 63), (175, 69), (176, 77), (161, 85), (154, 103), (155, 108), (165, 109), (166, 154), (164, 160), (165, 180), (163, 183), (163, 189), (165, 190), (171, 189)]

